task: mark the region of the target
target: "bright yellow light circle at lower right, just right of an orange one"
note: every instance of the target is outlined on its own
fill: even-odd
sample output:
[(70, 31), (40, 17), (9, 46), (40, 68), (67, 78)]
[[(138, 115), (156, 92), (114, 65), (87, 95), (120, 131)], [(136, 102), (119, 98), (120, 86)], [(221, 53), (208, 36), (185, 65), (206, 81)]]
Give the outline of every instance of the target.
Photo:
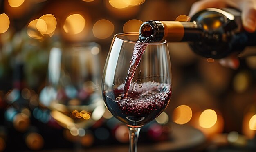
[(211, 128), (217, 121), (217, 114), (212, 109), (204, 110), (199, 117), (199, 125), (202, 128)]

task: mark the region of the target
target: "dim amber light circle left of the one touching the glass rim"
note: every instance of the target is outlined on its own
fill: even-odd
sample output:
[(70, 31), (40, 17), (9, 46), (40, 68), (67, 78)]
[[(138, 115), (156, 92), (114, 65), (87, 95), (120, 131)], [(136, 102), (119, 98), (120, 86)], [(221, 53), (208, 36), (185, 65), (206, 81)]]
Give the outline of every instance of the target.
[(114, 24), (109, 20), (98, 20), (93, 28), (93, 35), (99, 39), (106, 39), (112, 35), (114, 32)]

